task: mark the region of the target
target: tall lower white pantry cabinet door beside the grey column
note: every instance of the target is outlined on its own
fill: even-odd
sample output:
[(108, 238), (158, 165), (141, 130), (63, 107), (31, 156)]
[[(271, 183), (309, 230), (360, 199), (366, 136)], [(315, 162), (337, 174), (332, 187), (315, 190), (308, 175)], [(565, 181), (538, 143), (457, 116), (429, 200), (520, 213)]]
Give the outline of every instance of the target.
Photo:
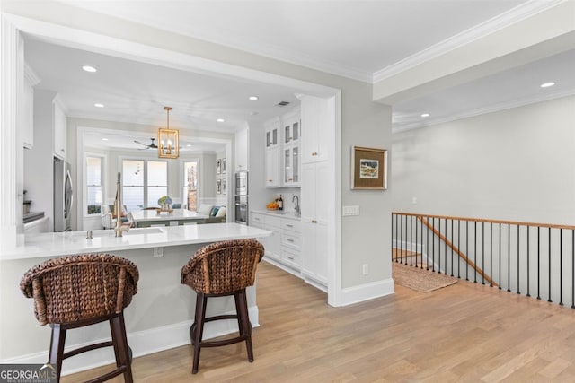
[(305, 279), (325, 288), (328, 283), (328, 210), (323, 198), (330, 193), (329, 163), (319, 161), (302, 165), (302, 274)]

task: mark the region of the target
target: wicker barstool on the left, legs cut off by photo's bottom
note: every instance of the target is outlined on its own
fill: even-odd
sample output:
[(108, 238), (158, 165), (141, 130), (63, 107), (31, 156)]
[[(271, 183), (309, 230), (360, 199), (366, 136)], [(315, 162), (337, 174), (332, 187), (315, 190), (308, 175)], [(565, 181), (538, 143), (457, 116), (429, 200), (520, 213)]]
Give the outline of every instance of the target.
[[(124, 308), (137, 292), (138, 278), (136, 265), (110, 254), (50, 259), (24, 274), (22, 293), (34, 299), (34, 314), (40, 325), (52, 327), (49, 363), (57, 364), (58, 381), (66, 358), (108, 346), (114, 347), (117, 368), (91, 382), (120, 374), (126, 382), (133, 381)], [(104, 321), (110, 321), (111, 341), (64, 353), (67, 330)]]

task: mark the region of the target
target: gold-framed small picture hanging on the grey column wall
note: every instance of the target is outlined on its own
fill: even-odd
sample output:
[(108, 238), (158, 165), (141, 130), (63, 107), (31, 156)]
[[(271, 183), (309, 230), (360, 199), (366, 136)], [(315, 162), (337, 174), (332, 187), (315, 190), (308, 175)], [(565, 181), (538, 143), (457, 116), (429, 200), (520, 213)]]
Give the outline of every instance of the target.
[(351, 189), (385, 190), (387, 188), (387, 150), (351, 147)]

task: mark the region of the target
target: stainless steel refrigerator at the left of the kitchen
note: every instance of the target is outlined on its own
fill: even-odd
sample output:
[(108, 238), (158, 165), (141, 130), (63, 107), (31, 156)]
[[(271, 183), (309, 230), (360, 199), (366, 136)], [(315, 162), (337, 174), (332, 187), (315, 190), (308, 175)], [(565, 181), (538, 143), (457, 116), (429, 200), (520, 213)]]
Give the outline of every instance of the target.
[(66, 161), (54, 157), (54, 231), (71, 231), (73, 196), (70, 166)]

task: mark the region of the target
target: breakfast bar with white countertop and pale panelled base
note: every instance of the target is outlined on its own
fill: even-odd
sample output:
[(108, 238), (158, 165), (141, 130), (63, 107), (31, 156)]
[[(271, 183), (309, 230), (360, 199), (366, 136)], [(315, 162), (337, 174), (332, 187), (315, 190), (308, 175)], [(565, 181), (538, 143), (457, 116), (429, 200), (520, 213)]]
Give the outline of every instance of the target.
[[(269, 236), (265, 231), (237, 223), (166, 226), (131, 229), (116, 238), (114, 231), (68, 231), (26, 236), (14, 248), (0, 248), (0, 363), (44, 363), (48, 360), (50, 328), (40, 326), (32, 300), (20, 292), (22, 275), (33, 265), (53, 258), (84, 253), (110, 253), (137, 265), (137, 294), (124, 311), (128, 344), (134, 356), (190, 344), (195, 292), (182, 285), (181, 267), (200, 247), (220, 240)], [(258, 326), (255, 286), (247, 289), (252, 326)], [(234, 300), (208, 303), (208, 315), (234, 312)], [(235, 331), (236, 321), (208, 323), (204, 337)], [(210, 326), (214, 325), (214, 326)], [(107, 323), (72, 330), (66, 349), (109, 338)], [(66, 360), (63, 374), (114, 362), (110, 348)]]

